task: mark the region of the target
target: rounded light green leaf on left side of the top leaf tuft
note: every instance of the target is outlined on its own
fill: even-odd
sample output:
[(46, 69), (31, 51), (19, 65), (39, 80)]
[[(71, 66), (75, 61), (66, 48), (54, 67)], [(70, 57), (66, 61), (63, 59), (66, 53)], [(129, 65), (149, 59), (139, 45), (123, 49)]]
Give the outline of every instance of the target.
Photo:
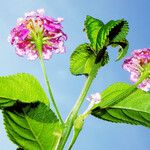
[(79, 45), (70, 58), (70, 71), (74, 75), (88, 75), (91, 72), (96, 56), (89, 44)]

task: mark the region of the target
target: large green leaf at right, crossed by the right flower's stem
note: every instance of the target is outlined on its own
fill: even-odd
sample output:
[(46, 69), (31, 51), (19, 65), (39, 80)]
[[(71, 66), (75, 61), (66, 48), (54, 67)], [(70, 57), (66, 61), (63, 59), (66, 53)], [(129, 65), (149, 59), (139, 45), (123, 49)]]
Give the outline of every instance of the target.
[[(150, 127), (150, 93), (140, 89), (124, 96), (130, 85), (116, 83), (102, 92), (102, 102), (92, 110), (92, 115), (116, 123), (128, 123)], [(103, 107), (112, 99), (122, 96), (118, 103)]]

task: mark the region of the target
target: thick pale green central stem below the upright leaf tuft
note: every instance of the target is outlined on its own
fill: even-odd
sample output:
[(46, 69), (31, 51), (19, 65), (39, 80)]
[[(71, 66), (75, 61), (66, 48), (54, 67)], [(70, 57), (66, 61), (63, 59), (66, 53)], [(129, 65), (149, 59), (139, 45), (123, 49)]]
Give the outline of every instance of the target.
[(58, 148), (57, 150), (63, 150), (64, 146), (65, 146), (65, 143), (70, 135), (70, 132), (71, 132), (71, 129), (73, 127), (73, 123), (77, 117), (77, 114), (78, 114), (78, 111), (85, 99), (85, 96), (90, 88), (90, 85), (94, 79), (94, 75), (89, 75), (86, 82), (85, 82), (85, 85), (84, 85), (84, 88), (75, 104), (75, 106), (73, 107), (70, 115), (68, 116), (67, 120), (66, 120), (66, 123), (65, 123), (65, 128), (64, 128), (64, 131), (63, 131), (63, 135), (62, 135), (62, 139), (58, 145)]

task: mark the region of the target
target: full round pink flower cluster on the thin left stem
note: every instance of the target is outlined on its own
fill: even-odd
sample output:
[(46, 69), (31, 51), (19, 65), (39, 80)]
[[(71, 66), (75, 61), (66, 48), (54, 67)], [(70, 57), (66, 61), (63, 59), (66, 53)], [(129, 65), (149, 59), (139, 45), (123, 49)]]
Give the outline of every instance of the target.
[(63, 18), (45, 16), (44, 9), (26, 13), (24, 18), (17, 20), (17, 25), (11, 30), (8, 40), (15, 46), (19, 56), (26, 55), (28, 59), (35, 60), (38, 58), (35, 40), (41, 34), (43, 59), (50, 59), (53, 52), (65, 52), (64, 41), (67, 36), (62, 31), (62, 21)]

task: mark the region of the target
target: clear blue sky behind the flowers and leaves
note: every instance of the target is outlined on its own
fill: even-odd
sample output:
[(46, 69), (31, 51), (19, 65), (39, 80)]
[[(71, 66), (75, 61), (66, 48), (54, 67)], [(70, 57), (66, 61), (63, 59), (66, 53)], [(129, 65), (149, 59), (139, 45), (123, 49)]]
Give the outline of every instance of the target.
[[(65, 19), (64, 31), (68, 35), (67, 53), (54, 55), (46, 61), (46, 67), (54, 96), (63, 114), (67, 116), (77, 99), (85, 78), (72, 76), (69, 72), (69, 57), (77, 45), (87, 42), (82, 32), (86, 15), (101, 19), (105, 23), (110, 19), (125, 18), (130, 25), (128, 40), (129, 52), (133, 49), (150, 46), (149, 0), (5, 0), (0, 7), (0, 75), (27, 72), (35, 75), (46, 90), (38, 61), (28, 61), (15, 54), (14, 48), (7, 42), (7, 36), (16, 19), (25, 12), (44, 8), (46, 14)], [(130, 83), (129, 74), (122, 70), (122, 61), (114, 62), (117, 49), (109, 49), (110, 64), (103, 68), (88, 93), (101, 92), (117, 81)], [(88, 106), (85, 101), (83, 111)], [(0, 149), (15, 150), (7, 138), (0, 114)], [(113, 124), (90, 116), (80, 134), (74, 150), (149, 150), (150, 130), (142, 126)]]

